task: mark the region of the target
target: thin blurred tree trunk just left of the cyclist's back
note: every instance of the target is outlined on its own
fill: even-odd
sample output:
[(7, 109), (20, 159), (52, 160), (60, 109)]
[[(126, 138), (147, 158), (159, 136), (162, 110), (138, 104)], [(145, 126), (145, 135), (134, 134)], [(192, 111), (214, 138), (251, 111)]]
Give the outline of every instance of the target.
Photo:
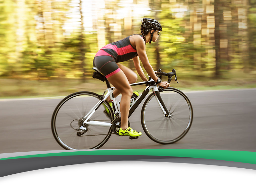
[(80, 68), (83, 72), (82, 75), (82, 82), (85, 82), (85, 40), (84, 40), (84, 17), (83, 17), (83, 12), (82, 12), (82, 0), (79, 1), (79, 11), (80, 11), (80, 18), (81, 18), (81, 30), (80, 30), (80, 35), (79, 35), (79, 50), (80, 50), (80, 58), (81, 58), (81, 64)]

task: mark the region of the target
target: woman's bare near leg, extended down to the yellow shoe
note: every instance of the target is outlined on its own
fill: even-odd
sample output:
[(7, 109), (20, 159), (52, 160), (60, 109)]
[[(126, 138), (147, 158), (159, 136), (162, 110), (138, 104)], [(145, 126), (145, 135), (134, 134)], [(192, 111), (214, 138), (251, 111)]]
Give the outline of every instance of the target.
[(120, 102), (121, 128), (125, 130), (128, 127), (130, 100), (133, 92), (132, 87), (122, 70), (108, 77), (108, 81), (122, 94)]

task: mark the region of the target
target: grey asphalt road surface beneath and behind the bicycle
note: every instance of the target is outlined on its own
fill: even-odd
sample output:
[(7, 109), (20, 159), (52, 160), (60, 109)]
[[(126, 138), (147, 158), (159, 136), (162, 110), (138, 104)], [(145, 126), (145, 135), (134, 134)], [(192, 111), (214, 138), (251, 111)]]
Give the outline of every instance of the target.
[[(185, 93), (194, 120), (182, 140), (168, 145), (150, 140), (141, 127), (140, 104), (129, 119), (142, 132), (140, 138), (112, 135), (101, 149), (256, 151), (256, 89)], [(63, 149), (51, 131), (52, 112), (60, 100), (0, 100), (0, 153)]]

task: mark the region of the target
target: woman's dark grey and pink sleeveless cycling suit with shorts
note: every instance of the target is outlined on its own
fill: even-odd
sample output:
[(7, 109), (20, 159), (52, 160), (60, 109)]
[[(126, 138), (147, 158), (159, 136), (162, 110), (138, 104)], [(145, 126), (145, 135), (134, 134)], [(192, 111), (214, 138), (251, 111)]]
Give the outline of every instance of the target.
[[(142, 37), (142, 35), (140, 36)], [(121, 70), (116, 63), (124, 62), (138, 56), (137, 50), (132, 46), (129, 38), (130, 36), (107, 44), (95, 55), (93, 66), (97, 67), (107, 78)]]

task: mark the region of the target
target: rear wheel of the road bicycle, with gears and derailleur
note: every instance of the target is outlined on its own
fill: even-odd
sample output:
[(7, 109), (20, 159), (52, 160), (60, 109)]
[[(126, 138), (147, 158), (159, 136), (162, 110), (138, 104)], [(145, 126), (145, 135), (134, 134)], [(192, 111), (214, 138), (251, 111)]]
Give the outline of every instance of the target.
[[(85, 125), (84, 116), (100, 101), (100, 95), (93, 92), (76, 92), (68, 95), (52, 114), (52, 133), (55, 140), (65, 149), (98, 149), (111, 136), (111, 127)], [(104, 114), (105, 105), (109, 117)], [(104, 101), (89, 120), (111, 123), (114, 119), (112, 108)]]

